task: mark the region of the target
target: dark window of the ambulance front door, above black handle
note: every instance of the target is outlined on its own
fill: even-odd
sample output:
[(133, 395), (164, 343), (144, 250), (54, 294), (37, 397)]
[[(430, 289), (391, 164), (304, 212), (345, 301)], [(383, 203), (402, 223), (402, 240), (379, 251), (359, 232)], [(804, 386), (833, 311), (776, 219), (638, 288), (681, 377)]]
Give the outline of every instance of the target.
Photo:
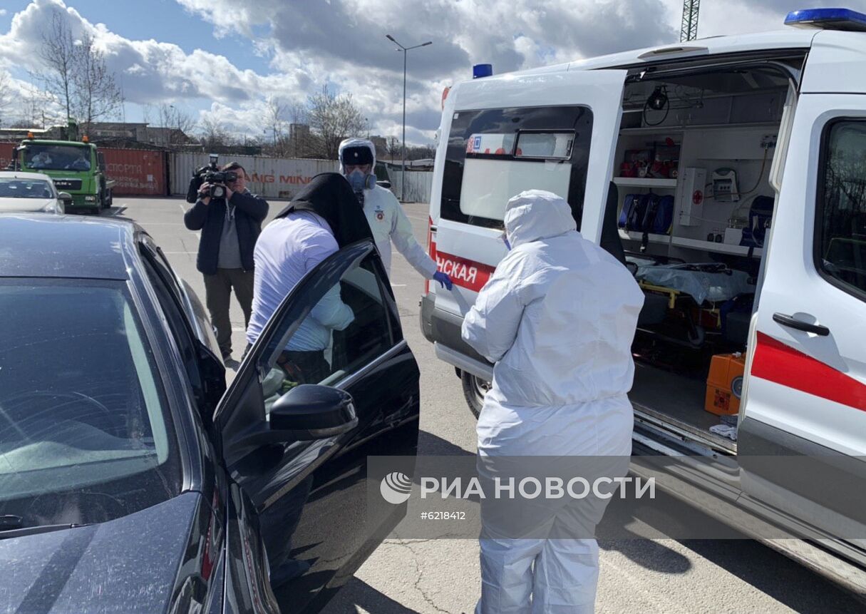
[(866, 120), (824, 128), (815, 260), (831, 283), (866, 301)]

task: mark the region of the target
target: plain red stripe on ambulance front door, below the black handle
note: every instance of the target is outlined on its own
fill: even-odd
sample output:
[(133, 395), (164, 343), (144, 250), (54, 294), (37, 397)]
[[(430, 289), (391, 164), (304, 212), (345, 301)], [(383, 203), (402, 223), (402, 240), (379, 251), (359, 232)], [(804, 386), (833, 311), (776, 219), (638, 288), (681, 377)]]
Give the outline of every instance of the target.
[(752, 375), (866, 411), (866, 385), (766, 333), (758, 333)]

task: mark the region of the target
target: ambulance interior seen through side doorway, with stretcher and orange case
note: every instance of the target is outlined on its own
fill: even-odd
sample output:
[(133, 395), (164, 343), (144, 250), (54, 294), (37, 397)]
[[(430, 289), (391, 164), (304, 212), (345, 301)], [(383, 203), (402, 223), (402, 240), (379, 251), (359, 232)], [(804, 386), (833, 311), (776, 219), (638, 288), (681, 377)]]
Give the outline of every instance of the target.
[[(611, 225), (647, 295), (630, 399), (650, 422), (729, 452), (789, 76), (757, 64), (706, 71), (671, 64), (635, 69), (624, 88)], [(669, 101), (647, 111), (659, 87)], [(640, 206), (648, 192), (675, 199), (670, 227), (657, 233), (663, 219), (643, 224), (657, 219)], [(629, 196), (639, 210), (623, 219)]]

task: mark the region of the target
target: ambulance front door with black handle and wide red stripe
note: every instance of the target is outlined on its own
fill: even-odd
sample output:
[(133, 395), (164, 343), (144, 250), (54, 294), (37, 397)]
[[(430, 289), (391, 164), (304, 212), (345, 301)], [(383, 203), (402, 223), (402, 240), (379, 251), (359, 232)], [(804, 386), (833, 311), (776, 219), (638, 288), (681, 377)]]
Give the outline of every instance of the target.
[(755, 505), (843, 540), (866, 537), (864, 151), (866, 95), (803, 87), (767, 231), (737, 449)]

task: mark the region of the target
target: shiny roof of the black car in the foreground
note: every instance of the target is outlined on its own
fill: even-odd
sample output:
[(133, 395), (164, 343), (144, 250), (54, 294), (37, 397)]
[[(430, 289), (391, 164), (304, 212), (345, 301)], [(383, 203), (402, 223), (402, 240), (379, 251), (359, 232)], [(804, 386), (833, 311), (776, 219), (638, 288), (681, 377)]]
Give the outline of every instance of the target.
[(104, 217), (0, 214), (0, 278), (128, 280), (139, 231)]

